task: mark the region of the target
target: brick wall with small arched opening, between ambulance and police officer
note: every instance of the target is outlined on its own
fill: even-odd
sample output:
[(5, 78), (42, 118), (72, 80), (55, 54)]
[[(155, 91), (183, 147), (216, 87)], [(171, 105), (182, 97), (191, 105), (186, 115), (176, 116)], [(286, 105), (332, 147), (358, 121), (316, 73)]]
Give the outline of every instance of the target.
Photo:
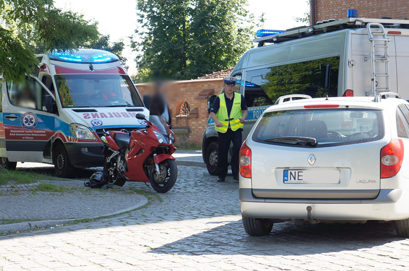
[[(135, 86), (141, 96), (152, 93), (153, 85), (150, 83)], [(201, 147), (203, 132), (209, 118), (208, 97), (218, 95), (222, 88), (222, 79), (186, 80), (169, 84), (166, 94), (171, 110), (172, 130), (177, 136), (176, 146)], [(184, 102), (189, 104), (190, 114), (180, 116), (180, 107)]]

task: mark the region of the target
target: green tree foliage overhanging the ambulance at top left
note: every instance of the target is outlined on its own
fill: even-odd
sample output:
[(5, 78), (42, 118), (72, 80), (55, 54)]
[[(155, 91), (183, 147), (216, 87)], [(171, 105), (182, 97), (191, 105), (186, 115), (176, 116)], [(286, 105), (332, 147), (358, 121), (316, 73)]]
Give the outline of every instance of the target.
[(61, 11), (53, 0), (0, 0), (0, 72), (7, 81), (30, 74), (36, 53), (78, 48), (97, 39), (95, 22)]

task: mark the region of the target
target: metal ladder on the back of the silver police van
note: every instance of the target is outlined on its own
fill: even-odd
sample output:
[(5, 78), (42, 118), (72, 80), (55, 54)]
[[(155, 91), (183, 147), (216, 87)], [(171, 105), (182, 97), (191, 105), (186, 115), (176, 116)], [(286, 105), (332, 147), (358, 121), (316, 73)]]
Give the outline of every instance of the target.
[[(371, 60), (372, 69), (372, 89), (371, 92), (367, 91), (367, 96), (375, 96), (377, 91), (389, 91), (389, 55), (388, 55), (388, 39), (387, 33), (381, 23), (371, 22), (367, 24), (369, 41), (371, 42), (371, 53), (365, 57), (365, 61)], [(376, 48), (381, 48), (376, 50)], [(380, 51), (380, 52), (379, 52)], [(380, 62), (377, 64), (376, 62)], [(383, 68), (381, 65), (383, 63)], [(381, 70), (377, 70), (381, 69)], [(378, 86), (379, 82), (383, 82), (380, 78), (384, 79), (384, 86)], [(376, 79), (379, 79), (376, 80)], [(380, 84), (379, 84), (380, 85)], [(383, 85), (383, 84), (382, 84)]]

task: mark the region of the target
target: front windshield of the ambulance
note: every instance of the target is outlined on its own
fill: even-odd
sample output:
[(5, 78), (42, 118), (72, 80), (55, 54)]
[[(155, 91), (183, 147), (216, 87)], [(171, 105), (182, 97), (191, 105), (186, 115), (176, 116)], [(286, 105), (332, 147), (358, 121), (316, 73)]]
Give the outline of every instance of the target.
[(56, 75), (62, 107), (143, 106), (126, 75)]

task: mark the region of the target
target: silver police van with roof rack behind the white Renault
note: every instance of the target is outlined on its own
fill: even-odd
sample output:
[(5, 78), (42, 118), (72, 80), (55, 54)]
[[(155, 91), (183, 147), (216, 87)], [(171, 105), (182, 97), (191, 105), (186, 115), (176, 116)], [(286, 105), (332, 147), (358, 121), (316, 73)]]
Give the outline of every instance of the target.
[[(275, 103), (385, 91), (409, 100), (409, 20), (350, 17), (257, 35), (258, 47), (248, 50), (231, 73), (248, 107), (243, 139)], [(209, 97), (208, 108), (215, 97)], [(210, 117), (202, 155), (209, 173), (217, 175), (217, 132)]]

